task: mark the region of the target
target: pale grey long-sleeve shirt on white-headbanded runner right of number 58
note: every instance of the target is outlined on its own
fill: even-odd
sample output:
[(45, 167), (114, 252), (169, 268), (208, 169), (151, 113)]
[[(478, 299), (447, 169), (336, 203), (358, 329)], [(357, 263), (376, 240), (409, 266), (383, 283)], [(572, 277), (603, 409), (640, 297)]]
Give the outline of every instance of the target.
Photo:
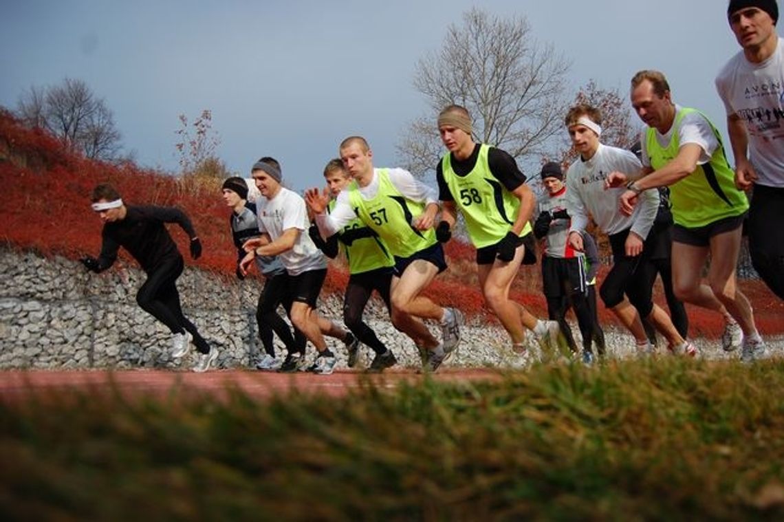
[(578, 158), (566, 172), (566, 208), (572, 217), (572, 230), (583, 233), (588, 225), (588, 214), (605, 234), (618, 234), (631, 228), (643, 239), (651, 231), (656, 212), (659, 212), (659, 190), (644, 190), (631, 216), (620, 210), (619, 198), (626, 187), (604, 190), (604, 180), (610, 172), (633, 176), (640, 172), (640, 161), (630, 150), (608, 147), (599, 143), (593, 158)]

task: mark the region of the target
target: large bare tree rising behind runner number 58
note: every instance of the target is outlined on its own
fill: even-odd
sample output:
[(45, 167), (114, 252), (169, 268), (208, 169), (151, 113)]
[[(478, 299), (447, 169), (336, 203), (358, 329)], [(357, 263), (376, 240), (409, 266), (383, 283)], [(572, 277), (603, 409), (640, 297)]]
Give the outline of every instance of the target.
[(569, 67), (553, 45), (535, 41), (524, 17), (471, 9), (461, 26), (448, 27), (441, 50), (417, 63), (414, 86), (433, 112), (402, 136), (397, 151), (403, 164), (420, 175), (434, 169), (443, 150), (435, 114), (451, 103), (470, 111), (477, 140), (524, 164), (538, 162), (552, 153), (552, 138), (562, 130)]

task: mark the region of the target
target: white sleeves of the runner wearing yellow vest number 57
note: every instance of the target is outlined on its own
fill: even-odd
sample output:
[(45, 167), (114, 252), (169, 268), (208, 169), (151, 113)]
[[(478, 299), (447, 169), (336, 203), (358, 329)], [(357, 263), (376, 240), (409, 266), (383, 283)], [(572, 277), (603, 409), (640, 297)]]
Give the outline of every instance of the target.
[[(373, 179), (366, 187), (359, 187), (362, 199), (369, 200), (376, 197), (379, 191), (379, 170), (373, 169)], [(387, 169), (390, 183), (400, 194), (411, 201), (421, 202), (425, 205), (438, 203), (436, 190), (416, 179), (411, 172), (405, 169)], [(416, 216), (415, 216), (416, 217)], [(335, 208), (328, 214), (316, 216), (318, 231), (323, 237), (329, 237), (341, 230), (358, 216), (351, 208), (348, 190), (341, 190), (335, 201)]]

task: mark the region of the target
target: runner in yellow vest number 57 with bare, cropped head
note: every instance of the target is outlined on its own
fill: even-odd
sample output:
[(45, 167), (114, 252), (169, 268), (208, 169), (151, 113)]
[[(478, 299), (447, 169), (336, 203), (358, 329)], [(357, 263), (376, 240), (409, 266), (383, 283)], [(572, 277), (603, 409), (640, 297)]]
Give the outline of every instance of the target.
[[(426, 357), (424, 369), (434, 372), (456, 349), (463, 323), (459, 310), (439, 306), (420, 295), (446, 270), (444, 249), (433, 230), (439, 210), (434, 190), (404, 169), (374, 169), (372, 150), (361, 136), (343, 140), (339, 152), (354, 181), (340, 192), (330, 214), (325, 212), (328, 198), (318, 189), (307, 190), (307, 204), (324, 237), (360, 219), (384, 240), (395, 259), (390, 286), (392, 323), (411, 337), (420, 355)], [(441, 343), (423, 319), (441, 324)]]

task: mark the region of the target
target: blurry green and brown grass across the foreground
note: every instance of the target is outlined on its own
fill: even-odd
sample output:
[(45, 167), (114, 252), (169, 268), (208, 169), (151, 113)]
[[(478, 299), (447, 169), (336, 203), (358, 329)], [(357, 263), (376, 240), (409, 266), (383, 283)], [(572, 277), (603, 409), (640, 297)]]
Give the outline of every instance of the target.
[(784, 362), (0, 401), (3, 520), (784, 517)]

